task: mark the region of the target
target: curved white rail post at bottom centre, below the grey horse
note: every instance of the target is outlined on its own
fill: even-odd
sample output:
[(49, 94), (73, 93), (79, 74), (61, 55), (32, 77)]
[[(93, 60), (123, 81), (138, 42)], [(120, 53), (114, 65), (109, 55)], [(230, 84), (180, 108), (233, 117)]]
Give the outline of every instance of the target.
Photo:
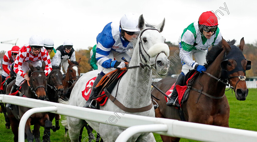
[(127, 142), (130, 137), (137, 133), (147, 132), (167, 132), (168, 126), (166, 124), (149, 124), (131, 126), (123, 131), (115, 140), (115, 142)]

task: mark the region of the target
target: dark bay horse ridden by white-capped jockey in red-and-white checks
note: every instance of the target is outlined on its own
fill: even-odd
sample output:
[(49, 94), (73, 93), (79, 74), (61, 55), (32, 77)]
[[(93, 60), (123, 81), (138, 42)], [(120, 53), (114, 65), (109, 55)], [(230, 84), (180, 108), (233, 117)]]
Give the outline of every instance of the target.
[[(28, 76), (30, 77), (29, 81), (24, 82), (22, 84), (22, 88), (20, 90), (22, 97), (28, 97), (39, 100), (47, 100), (46, 96), (46, 87), (47, 87), (47, 77), (45, 75), (45, 62), (42, 63), (42, 67), (33, 67), (32, 64), (29, 63), (30, 71)], [(6, 93), (10, 93), (11, 87), (15, 83), (13, 80), (6, 89)], [(26, 103), (26, 102), (24, 102)], [(14, 142), (18, 141), (18, 126), (20, 118), (27, 112), (28, 107), (22, 106), (13, 106), (13, 110), (7, 109), (7, 114), (11, 123), (11, 128), (14, 134)], [(30, 126), (34, 125), (33, 133), (31, 132)], [(52, 126), (52, 122), (49, 120), (49, 116), (47, 112), (43, 113), (35, 113), (28, 118), (25, 125), (25, 133), (27, 135), (28, 142), (33, 142), (34, 138), (36, 142), (40, 142), (40, 126), (45, 127), (45, 139), (50, 140), (50, 128)]]

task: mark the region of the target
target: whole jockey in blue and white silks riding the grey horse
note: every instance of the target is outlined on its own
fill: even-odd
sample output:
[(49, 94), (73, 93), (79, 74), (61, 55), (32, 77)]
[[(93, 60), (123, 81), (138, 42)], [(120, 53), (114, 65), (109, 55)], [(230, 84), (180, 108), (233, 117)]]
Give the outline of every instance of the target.
[[(102, 71), (95, 79), (92, 88), (95, 88), (106, 73), (125, 67), (122, 57), (130, 61), (131, 57), (128, 56), (126, 51), (133, 48), (131, 41), (138, 36), (138, 19), (139, 15), (137, 14), (125, 14), (121, 17), (120, 23), (108, 23), (102, 32), (98, 34), (96, 37), (95, 58), (97, 63), (102, 67), (102, 69), (98, 68), (98, 70)], [(96, 104), (92, 102), (92, 98), (96, 97), (99, 91), (92, 90), (84, 107), (96, 108)]]

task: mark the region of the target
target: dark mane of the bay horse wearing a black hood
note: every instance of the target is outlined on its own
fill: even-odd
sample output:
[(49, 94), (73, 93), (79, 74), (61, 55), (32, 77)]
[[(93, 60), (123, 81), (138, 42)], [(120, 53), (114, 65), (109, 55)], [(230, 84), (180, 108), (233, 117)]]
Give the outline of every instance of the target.
[[(235, 39), (233, 40), (229, 40), (227, 41), (228, 44), (231, 46), (231, 45), (234, 45), (237, 41)], [(206, 55), (206, 61), (207, 61), (207, 67), (210, 66), (211, 63), (214, 62), (214, 60), (218, 57), (218, 55), (223, 51), (223, 48), (222, 48), (222, 41), (220, 41), (218, 43), (218, 45), (215, 45), (213, 46), (210, 51), (208, 51), (207, 55)]]

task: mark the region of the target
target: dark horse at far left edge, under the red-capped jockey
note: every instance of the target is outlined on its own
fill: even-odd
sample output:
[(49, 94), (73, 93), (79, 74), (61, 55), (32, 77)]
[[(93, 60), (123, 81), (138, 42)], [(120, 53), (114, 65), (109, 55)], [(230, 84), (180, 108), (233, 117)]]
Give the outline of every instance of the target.
[[(7, 87), (7, 85), (16, 78), (17, 74), (13, 71), (13, 66), (14, 66), (14, 63), (12, 63), (12, 65), (10, 66), (11, 67), (10, 75), (8, 77), (6, 77), (5, 83), (3, 84), (3, 94), (6, 94), (6, 87)], [(0, 103), (0, 106), (2, 108), (2, 113), (4, 114), (4, 117), (5, 117), (6, 129), (10, 129), (11, 124), (10, 124), (10, 120), (9, 120), (9, 118), (7, 116), (7, 111), (6, 111), (5, 104), (4, 103)]]

